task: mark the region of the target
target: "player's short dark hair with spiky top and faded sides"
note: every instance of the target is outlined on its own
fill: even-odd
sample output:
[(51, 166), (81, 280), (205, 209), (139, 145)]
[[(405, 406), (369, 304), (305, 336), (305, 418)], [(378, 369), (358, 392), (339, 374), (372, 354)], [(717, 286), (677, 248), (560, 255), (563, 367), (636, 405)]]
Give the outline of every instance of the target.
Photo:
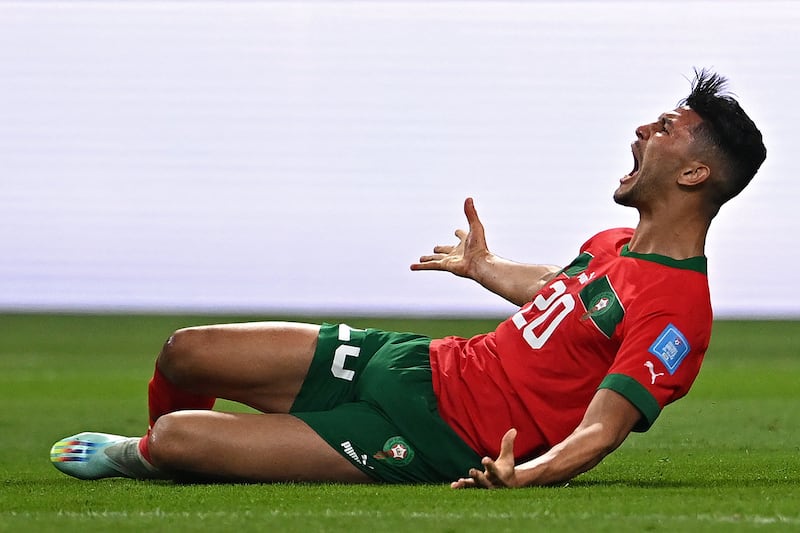
[(755, 123), (727, 91), (728, 80), (707, 69), (694, 70), (692, 92), (679, 105), (687, 105), (703, 121), (693, 132), (721, 154), (722, 178), (712, 180), (714, 202), (720, 206), (742, 192), (767, 157)]

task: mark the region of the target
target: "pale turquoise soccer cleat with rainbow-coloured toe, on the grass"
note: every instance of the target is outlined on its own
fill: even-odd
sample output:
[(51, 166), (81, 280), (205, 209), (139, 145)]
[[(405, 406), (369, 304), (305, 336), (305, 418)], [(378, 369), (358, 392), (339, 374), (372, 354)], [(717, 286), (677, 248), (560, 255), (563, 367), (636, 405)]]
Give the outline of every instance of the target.
[(50, 461), (78, 479), (156, 477), (153, 467), (138, 455), (138, 442), (139, 437), (78, 433), (56, 442), (50, 449)]

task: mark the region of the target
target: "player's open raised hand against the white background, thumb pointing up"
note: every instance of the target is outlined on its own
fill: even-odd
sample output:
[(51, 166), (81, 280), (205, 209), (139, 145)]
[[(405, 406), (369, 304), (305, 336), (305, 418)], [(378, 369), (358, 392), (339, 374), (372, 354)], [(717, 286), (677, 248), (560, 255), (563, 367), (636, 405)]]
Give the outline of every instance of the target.
[(476, 279), (479, 268), (490, 256), (486, 246), (483, 224), (478, 218), (472, 198), (464, 202), (469, 231), (456, 230), (458, 244), (438, 245), (432, 255), (423, 255), (419, 263), (411, 265), (411, 270), (444, 270), (456, 276)]

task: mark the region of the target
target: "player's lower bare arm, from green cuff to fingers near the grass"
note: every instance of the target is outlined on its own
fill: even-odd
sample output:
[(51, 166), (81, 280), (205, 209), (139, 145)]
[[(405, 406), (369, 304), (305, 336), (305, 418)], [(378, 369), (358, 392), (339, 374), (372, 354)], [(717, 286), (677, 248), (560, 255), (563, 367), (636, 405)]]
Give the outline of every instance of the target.
[(595, 467), (616, 450), (641, 417), (639, 410), (621, 394), (598, 390), (583, 420), (572, 434), (547, 453), (514, 464), (516, 430), (503, 437), (497, 459), (484, 457), (484, 470), (471, 469), (469, 477), (454, 481), (453, 488), (527, 487), (563, 482)]

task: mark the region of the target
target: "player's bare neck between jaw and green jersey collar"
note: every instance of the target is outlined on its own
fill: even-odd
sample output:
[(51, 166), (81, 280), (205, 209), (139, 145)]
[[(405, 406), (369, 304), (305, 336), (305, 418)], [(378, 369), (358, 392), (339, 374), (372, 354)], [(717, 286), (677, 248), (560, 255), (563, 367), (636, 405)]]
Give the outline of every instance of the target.
[(659, 254), (673, 259), (705, 255), (711, 219), (697, 213), (660, 216), (640, 210), (639, 224), (628, 248), (640, 254)]

